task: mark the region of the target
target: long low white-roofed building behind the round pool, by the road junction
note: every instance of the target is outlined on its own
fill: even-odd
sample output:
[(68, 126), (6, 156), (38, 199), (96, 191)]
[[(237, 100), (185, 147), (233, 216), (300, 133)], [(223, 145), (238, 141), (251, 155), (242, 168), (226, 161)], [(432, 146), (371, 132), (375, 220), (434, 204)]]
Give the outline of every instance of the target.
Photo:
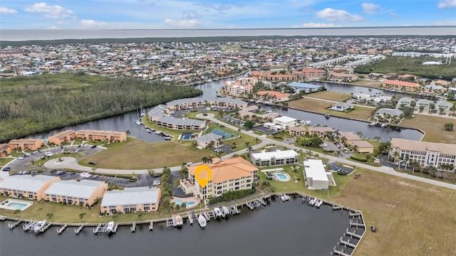
[(277, 150), (250, 154), (250, 160), (256, 166), (274, 166), (294, 164), (298, 161), (299, 154), (294, 150)]

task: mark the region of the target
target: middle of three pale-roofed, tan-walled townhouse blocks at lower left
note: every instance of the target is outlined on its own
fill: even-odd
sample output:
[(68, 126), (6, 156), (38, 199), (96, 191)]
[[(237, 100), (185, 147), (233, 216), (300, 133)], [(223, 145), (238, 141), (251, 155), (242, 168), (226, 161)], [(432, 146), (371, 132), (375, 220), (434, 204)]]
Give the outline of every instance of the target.
[(97, 198), (103, 198), (106, 191), (108, 191), (108, 183), (104, 181), (56, 181), (44, 191), (44, 199), (51, 202), (91, 206)]

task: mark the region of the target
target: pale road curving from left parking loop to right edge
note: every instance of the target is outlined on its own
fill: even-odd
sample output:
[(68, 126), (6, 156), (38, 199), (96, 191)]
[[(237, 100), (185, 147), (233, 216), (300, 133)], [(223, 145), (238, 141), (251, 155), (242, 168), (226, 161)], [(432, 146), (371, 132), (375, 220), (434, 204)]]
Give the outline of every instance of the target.
[[(216, 122), (218, 124), (222, 124), (225, 127), (228, 127), (229, 129), (233, 129), (235, 131), (237, 131), (239, 129), (238, 127), (234, 127), (231, 124), (227, 124), (225, 122), (220, 121), (219, 119), (215, 119), (214, 118), (214, 114), (207, 114), (207, 116), (203, 116), (202, 114), (197, 114), (197, 117), (198, 118), (202, 118), (202, 119), (209, 119), (212, 122)], [(262, 146), (266, 146), (267, 144), (276, 144), (278, 146), (284, 146), (284, 147), (287, 147), (289, 149), (294, 149), (296, 151), (298, 151), (298, 150), (309, 151), (307, 149), (300, 148), (299, 146), (289, 145), (289, 144), (286, 144), (284, 142), (278, 142), (278, 141), (276, 141), (274, 139), (269, 139), (269, 138), (254, 134), (254, 132), (252, 132), (252, 131), (241, 130), (241, 133), (249, 135), (251, 137), (255, 137), (255, 138), (261, 139), (261, 143), (255, 145), (255, 146), (252, 146), (253, 149), (257, 149), (257, 148), (260, 148)], [(229, 159), (234, 154), (239, 154), (240, 155), (240, 154), (244, 154), (244, 153), (247, 153), (247, 149), (242, 149), (242, 150), (236, 151), (236, 152), (234, 152), (232, 154), (227, 154), (225, 156), (222, 156), (222, 159)], [(318, 154), (318, 153), (316, 155), (320, 156), (320, 154)], [(429, 179), (429, 178), (422, 178), (422, 177), (419, 177), (419, 176), (413, 176), (413, 175), (409, 175), (409, 174), (399, 173), (397, 171), (394, 171), (393, 168), (388, 167), (388, 166), (375, 167), (375, 166), (370, 166), (370, 165), (367, 165), (367, 164), (356, 163), (356, 162), (350, 161), (348, 159), (341, 159), (341, 158), (338, 158), (336, 156), (327, 156), (327, 155), (324, 155), (324, 156), (321, 155), (321, 156), (326, 158), (326, 159), (329, 159), (330, 161), (338, 161), (338, 162), (343, 163), (343, 164), (349, 164), (351, 166), (358, 166), (358, 167), (361, 167), (361, 168), (364, 168), (364, 169), (378, 171), (378, 172), (381, 172), (383, 174), (390, 174), (390, 175), (393, 175), (393, 176), (398, 176), (398, 177), (402, 177), (402, 178), (408, 178), (408, 179), (411, 179), (411, 180), (414, 180), (414, 181), (421, 181), (421, 182), (432, 184), (432, 185), (435, 185), (435, 186), (442, 186), (442, 187), (445, 187), (445, 188), (451, 188), (451, 189), (456, 190), (456, 185), (455, 184), (445, 183), (445, 182), (442, 182), (442, 181), (436, 181), (436, 180), (432, 180), (432, 179)], [(76, 161), (76, 159), (74, 159), (74, 158), (63, 157), (62, 159), (63, 159), (63, 163), (57, 163), (56, 161), (48, 161), (48, 162), (46, 162), (46, 164), (44, 164), (44, 166), (46, 168), (49, 168), (49, 169), (67, 168), (67, 169), (75, 169), (75, 170), (80, 170), (80, 171), (92, 172), (92, 168), (91, 167), (79, 165), (78, 162)], [(195, 163), (195, 164), (199, 164), (199, 163)], [(171, 169), (171, 171), (179, 171), (180, 170), (180, 166), (171, 167), (170, 169)], [(155, 173), (161, 173), (162, 169), (154, 169), (154, 171), (155, 171)], [(148, 174), (147, 169), (142, 169), (142, 170), (117, 170), (117, 169), (101, 169), (101, 168), (97, 168), (96, 172), (99, 173), (99, 174), (133, 174), (133, 173), (134, 174)]]

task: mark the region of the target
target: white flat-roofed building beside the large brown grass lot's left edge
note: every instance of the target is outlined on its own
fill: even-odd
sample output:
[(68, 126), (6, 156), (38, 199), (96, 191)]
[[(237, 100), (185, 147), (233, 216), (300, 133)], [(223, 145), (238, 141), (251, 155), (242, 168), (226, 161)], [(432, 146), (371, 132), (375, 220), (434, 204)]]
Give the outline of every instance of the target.
[(323, 162), (319, 159), (304, 161), (304, 179), (309, 189), (328, 189), (329, 180), (333, 179), (331, 172), (326, 173)]

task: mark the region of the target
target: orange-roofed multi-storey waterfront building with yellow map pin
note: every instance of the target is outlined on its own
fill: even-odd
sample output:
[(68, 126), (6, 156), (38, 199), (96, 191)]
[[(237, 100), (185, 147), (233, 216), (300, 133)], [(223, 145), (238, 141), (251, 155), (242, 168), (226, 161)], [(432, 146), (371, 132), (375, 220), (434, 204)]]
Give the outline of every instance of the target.
[[(208, 166), (212, 176), (206, 186), (201, 186), (195, 178), (196, 170), (199, 166)], [(222, 193), (228, 191), (239, 191), (252, 188), (257, 183), (257, 166), (250, 164), (249, 161), (237, 156), (231, 159), (213, 159), (212, 163), (188, 167), (188, 179), (180, 180), (180, 186), (187, 193), (193, 193), (194, 196), (206, 200), (222, 196)], [(200, 175), (206, 174), (204, 167)]]

